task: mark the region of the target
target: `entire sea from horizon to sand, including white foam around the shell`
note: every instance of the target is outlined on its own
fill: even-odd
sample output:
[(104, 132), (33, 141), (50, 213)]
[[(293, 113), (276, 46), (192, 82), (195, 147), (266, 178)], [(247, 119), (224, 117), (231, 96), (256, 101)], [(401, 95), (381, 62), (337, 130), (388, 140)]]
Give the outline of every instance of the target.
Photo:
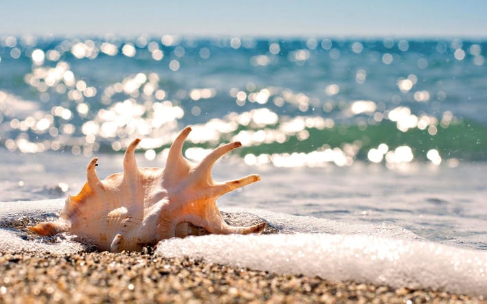
[[(139, 165), (163, 166), (190, 125), (188, 159), (243, 144), (217, 163), (216, 180), (262, 177), (220, 198), (220, 209), (280, 234), (174, 239), (157, 253), (486, 295), (486, 48), (460, 39), (2, 36), (0, 221), (53, 218), (91, 157), (100, 177), (120, 172), (135, 137)], [(0, 233), (2, 250), (83, 248)]]

